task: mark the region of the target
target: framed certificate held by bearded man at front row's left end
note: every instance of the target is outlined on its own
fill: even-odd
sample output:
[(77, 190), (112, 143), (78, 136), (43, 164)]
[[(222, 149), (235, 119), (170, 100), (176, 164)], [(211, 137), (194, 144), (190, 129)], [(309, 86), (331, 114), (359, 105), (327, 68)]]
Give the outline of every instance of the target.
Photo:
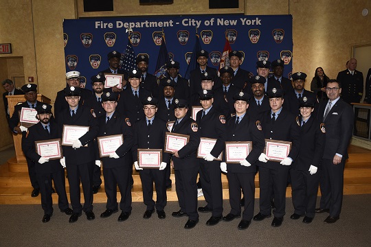
[(49, 158), (50, 160), (63, 158), (60, 139), (35, 141), (35, 150), (38, 155)]

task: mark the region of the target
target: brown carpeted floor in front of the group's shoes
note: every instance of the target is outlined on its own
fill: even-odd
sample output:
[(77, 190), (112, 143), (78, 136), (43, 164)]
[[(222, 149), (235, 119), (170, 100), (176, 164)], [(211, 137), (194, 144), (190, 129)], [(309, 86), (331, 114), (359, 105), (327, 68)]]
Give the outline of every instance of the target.
[[(0, 205), (0, 246), (370, 246), (371, 195), (345, 196), (340, 220), (335, 224), (323, 221), (328, 213), (317, 214), (311, 224), (291, 220), (291, 198), (286, 201), (286, 215), (281, 227), (271, 227), (273, 217), (252, 222), (245, 231), (237, 229), (240, 219), (205, 226), (210, 213), (200, 213), (200, 222), (191, 230), (183, 228), (187, 217), (175, 218), (177, 202), (168, 202), (165, 220), (155, 213), (149, 220), (142, 215), (142, 202), (133, 203), (133, 213), (126, 222), (117, 222), (119, 213), (102, 219), (104, 204), (95, 204), (95, 220), (85, 214), (69, 224), (69, 216), (54, 207), (50, 222), (41, 222), (41, 205)], [(205, 206), (201, 201), (199, 206)], [(229, 213), (224, 202), (224, 215)], [(255, 213), (258, 212), (258, 200)]]

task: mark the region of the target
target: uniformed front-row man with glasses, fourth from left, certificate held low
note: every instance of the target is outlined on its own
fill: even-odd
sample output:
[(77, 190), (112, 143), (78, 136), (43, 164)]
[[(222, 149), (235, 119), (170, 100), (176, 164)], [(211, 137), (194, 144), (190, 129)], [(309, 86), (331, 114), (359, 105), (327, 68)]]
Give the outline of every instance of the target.
[[(140, 180), (142, 180), (143, 201), (147, 209), (144, 212), (144, 219), (149, 219), (155, 208), (159, 219), (165, 219), (166, 213), (164, 208), (166, 206), (166, 170), (168, 163), (170, 163), (170, 155), (162, 152), (162, 160), (159, 169), (146, 169), (140, 167), (137, 160), (138, 148), (146, 149), (164, 149), (165, 133), (168, 131), (166, 122), (155, 116), (157, 111), (158, 100), (153, 97), (147, 97), (142, 101), (144, 108), (145, 119), (138, 121), (134, 126), (134, 145), (132, 148), (133, 161), (135, 169), (139, 170)], [(153, 200), (153, 182), (155, 182), (155, 189), (157, 200)]]

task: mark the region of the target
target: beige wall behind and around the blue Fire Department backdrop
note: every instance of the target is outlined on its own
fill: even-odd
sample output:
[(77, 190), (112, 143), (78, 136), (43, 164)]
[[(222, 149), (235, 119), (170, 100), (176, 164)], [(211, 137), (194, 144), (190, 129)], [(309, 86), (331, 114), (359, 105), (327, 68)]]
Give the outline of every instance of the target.
[[(78, 13), (88, 16), (82, 13), (82, 0), (0, 0), (0, 3), (0, 43), (12, 43), (11, 57), (23, 57), (25, 78), (33, 76), (39, 93), (54, 100), (65, 83), (63, 19), (76, 19)], [(307, 73), (308, 78), (313, 77), (319, 66), (330, 78), (336, 77), (350, 58), (352, 45), (371, 43), (371, 14), (361, 16), (363, 8), (371, 12), (369, 0), (240, 0), (240, 3), (241, 10), (219, 13), (293, 15), (293, 70)], [(115, 12), (104, 14), (216, 13), (207, 10), (207, 6), (208, 0), (174, 0), (172, 5), (155, 6), (139, 5), (138, 0), (114, 0)], [(10, 56), (0, 55), (3, 57)], [(0, 121), (4, 126), (3, 118)], [(4, 145), (8, 143), (0, 138), (0, 148)]]

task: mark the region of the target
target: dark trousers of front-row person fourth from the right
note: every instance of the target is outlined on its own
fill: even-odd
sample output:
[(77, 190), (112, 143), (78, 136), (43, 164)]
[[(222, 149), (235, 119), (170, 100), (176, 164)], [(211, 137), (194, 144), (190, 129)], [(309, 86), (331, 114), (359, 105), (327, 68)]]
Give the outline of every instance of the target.
[(243, 210), (243, 220), (251, 220), (254, 216), (254, 201), (255, 201), (255, 183), (254, 173), (227, 173), (228, 189), (229, 189), (229, 204), (231, 205), (231, 213), (234, 215), (241, 214), (240, 198), (241, 188), (243, 190), (245, 209)]

